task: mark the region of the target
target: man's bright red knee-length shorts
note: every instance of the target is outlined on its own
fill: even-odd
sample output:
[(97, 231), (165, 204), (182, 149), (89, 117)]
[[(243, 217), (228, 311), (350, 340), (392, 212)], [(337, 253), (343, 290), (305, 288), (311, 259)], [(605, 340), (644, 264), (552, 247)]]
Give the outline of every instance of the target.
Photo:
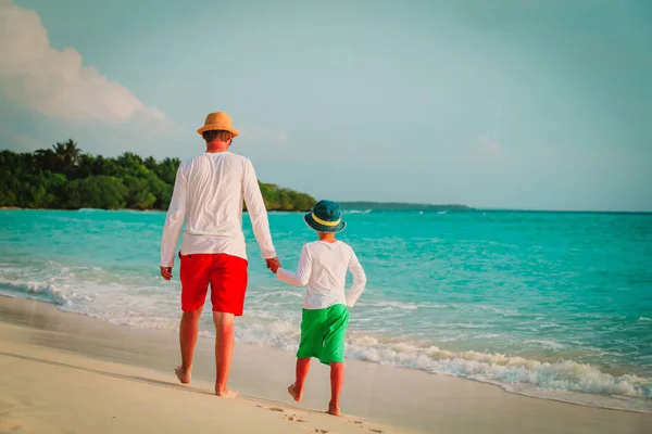
[(242, 315), (247, 292), (247, 260), (224, 253), (181, 255), (181, 309), (204, 305), (209, 283), (213, 311)]

